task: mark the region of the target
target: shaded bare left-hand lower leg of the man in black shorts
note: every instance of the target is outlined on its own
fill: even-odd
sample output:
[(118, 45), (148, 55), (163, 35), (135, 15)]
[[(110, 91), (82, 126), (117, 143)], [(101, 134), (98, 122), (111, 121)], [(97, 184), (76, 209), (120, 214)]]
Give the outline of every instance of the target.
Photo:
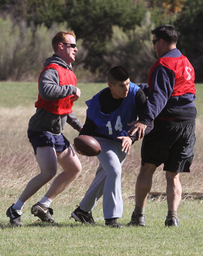
[(135, 185), (135, 205), (145, 207), (147, 195), (152, 188), (152, 177), (156, 170), (154, 164), (145, 163), (140, 167), (139, 175)]

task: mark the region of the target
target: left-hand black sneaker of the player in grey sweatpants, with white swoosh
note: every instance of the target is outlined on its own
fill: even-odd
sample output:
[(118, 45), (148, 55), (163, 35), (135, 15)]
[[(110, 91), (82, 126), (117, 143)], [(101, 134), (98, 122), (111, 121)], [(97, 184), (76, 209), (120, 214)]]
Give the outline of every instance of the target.
[(92, 212), (85, 212), (80, 209), (80, 205), (77, 206), (78, 207), (75, 209), (75, 211), (71, 213), (70, 218), (74, 218), (75, 221), (79, 221), (81, 223), (89, 223), (91, 225), (97, 224), (92, 217)]

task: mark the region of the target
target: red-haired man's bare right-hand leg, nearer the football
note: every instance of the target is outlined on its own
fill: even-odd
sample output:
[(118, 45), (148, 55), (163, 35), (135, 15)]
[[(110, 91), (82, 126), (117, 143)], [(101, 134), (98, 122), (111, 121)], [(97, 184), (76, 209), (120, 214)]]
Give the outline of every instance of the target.
[(51, 200), (63, 192), (78, 177), (82, 168), (71, 146), (61, 153), (56, 153), (56, 155), (57, 161), (64, 171), (58, 174), (45, 194), (45, 196)]

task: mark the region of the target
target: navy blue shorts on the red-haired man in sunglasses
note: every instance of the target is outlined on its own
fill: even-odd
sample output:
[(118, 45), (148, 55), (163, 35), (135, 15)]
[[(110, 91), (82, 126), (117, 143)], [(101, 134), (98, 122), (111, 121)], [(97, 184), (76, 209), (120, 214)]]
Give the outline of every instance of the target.
[(70, 146), (68, 139), (61, 133), (53, 135), (50, 132), (37, 132), (28, 129), (28, 138), (37, 154), (38, 147), (52, 147), (56, 152), (62, 152)]

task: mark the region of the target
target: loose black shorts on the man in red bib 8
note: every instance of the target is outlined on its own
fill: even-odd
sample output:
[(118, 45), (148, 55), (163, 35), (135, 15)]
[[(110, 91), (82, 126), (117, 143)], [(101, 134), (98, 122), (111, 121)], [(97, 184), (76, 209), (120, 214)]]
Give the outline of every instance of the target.
[(190, 172), (195, 144), (195, 120), (167, 123), (155, 121), (154, 129), (144, 136), (142, 165), (164, 163), (163, 170)]

